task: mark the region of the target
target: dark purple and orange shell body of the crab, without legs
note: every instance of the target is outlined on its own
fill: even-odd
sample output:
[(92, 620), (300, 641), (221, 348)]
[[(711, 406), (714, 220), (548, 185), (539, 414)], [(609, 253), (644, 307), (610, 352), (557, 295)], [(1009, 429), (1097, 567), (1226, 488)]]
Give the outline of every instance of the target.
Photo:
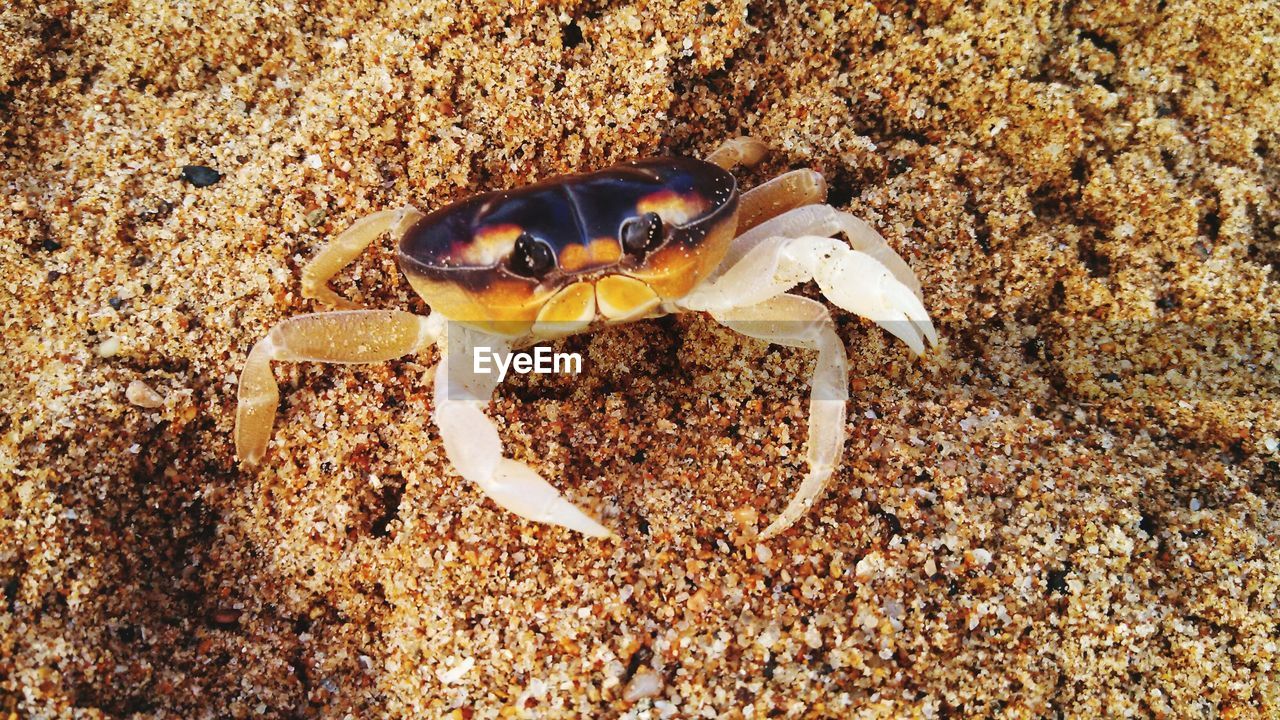
[[(570, 334), (649, 316), (696, 287), (733, 240), (737, 197), (737, 181), (712, 163), (635, 160), (442, 208), (401, 236), (399, 265), (451, 320), (507, 337)], [(660, 245), (623, 251), (623, 224), (646, 213), (662, 218)], [(540, 278), (509, 266), (522, 233), (554, 255)]]

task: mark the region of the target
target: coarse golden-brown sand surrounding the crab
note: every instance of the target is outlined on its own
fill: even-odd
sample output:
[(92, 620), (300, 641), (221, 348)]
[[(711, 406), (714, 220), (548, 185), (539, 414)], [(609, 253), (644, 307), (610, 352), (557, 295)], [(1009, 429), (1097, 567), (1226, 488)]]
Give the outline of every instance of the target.
[[(1280, 715), (1275, 4), (513, 5), (0, 9), (0, 711)], [(494, 404), (617, 543), (453, 474), (434, 354), (278, 364), (237, 469), (356, 218), (736, 135), (943, 336), (837, 313), (849, 447), (783, 537), (813, 357), (696, 315)], [(425, 313), (387, 245), (335, 287)]]

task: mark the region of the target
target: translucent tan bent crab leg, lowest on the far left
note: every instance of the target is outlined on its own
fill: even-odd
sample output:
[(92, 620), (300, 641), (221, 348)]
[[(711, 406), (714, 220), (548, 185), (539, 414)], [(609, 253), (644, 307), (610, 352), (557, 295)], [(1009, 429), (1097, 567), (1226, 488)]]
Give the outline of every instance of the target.
[(236, 456), (253, 465), (266, 451), (280, 389), (271, 360), (384, 363), (430, 347), (443, 322), (399, 310), (340, 310), (276, 323), (244, 360), (236, 402)]

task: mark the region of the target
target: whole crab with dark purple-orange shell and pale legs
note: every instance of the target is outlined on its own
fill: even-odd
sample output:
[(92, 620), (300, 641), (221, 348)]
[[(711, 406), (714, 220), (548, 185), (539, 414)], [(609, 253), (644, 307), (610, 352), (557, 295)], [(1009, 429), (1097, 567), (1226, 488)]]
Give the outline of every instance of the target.
[[(704, 160), (649, 158), (485, 192), (430, 214), (412, 206), (357, 220), (302, 270), (302, 293), (337, 307), (288, 318), (253, 345), (239, 378), (236, 452), (257, 464), (279, 388), (271, 361), (383, 363), (439, 346), (434, 420), (460, 475), (536, 523), (614, 537), (529, 465), (503, 456), (485, 414), (494, 374), (468, 373), (477, 347), (511, 352), (540, 341), (671, 313), (707, 313), (762, 341), (814, 350), (808, 475), (760, 533), (777, 536), (822, 496), (841, 460), (849, 361), (827, 306), (792, 295), (814, 281), (915, 354), (938, 338), (911, 268), (867, 223), (826, 205), (810, 169), (745, 192), (731, 173), (767, 152), (739, 137)], [(384, 232), (429, 315), (360, 309), (329, 281)], [(844, 234), (846, 240), (836, 236)]]

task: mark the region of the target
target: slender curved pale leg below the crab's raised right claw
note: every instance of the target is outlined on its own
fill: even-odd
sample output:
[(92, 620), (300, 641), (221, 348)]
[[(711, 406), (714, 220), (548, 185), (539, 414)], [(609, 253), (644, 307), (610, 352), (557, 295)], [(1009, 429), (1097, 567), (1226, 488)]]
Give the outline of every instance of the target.
[(809, 474), (782, 514), (760, 533), (762, 539), (786, 530), (804, 516), (826, 489), (845, 447), (845, 404), (849, 359), (827, 309), (806, 297), (780, 295), (746, 307), (713, 311), (712, 316), (742, 334), (767, 342), (818, 351), (809, 391)]

